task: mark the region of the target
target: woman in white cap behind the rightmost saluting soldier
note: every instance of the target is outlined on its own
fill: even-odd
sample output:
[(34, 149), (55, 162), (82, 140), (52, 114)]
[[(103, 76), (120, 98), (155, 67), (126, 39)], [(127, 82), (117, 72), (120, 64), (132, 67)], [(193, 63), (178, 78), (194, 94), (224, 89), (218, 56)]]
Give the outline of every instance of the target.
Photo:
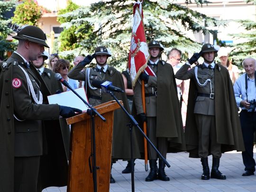
[(220, 60), (220, 64), (224, 67), (227, 67), (227, 69), (229, 70), (230, 79), (234, 84), (239, 77), (239, 69), (237, 66), (232, 65), (231, 61), (229, 60), (229, 53), (229, 48), (221, 47), (218, 51), (218, 57)]

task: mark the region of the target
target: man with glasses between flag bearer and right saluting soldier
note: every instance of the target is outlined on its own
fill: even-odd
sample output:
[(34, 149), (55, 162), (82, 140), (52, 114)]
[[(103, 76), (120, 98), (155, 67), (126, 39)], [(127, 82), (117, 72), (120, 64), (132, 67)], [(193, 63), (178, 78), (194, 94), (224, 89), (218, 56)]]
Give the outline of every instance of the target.
[[(171, 64), (174, 68), (174, 75), (176, 72), (181, 68), (178, 64), (181, 62), (182, 52), (176, 48), (170, 50), (167, 54), (168, 60), (167, 63)], [(178, 99), (180, 103), (182, 103), (182, 90), (184, 89), (184, 82), (183, 80), (175, 79), (177, 85), (177, 92), (178, 92)]]

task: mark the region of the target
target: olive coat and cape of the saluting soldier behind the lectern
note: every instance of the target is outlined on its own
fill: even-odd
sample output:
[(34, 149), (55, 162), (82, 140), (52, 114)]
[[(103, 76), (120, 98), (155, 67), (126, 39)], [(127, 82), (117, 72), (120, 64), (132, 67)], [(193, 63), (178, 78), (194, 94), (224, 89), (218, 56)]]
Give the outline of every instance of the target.
[[(101, 89), (93, 90), (91, 89), (89, 83), (93, 80), (99, 81), (110, 81), (113, 83), (113, 86), (119, 87), (123, 90), (124, 82), (123, 77), (119, 71), (117, 71), (114, 67), (108, 66), (106, 74), (99, 74), (97, 72), (97, 66), (94, 68), (86, 68), (84, 70), (83, 66), (78, 64), (74, 67), (68, 74), (69, 78), (85, 81), (85, 90), (89, 100), (89, 103), (92, 106), (99, 105), (101, 103), (108, 102), (110, 100), (114, 100), (110, 94), (103, 93)], [(82, 71), (81, 71), (82, 70)], [(89, 75), (89, 76), (88, 76)], [(100, 96), (101, 100), (91, 98), (93, 96)], [(115, 96), (118, 100), (123, 101), (124, 108), (130, 112), (128, 101), (125, 93), (115, 92)], [(117, 109), (114, 111), (114, 124), (113, 124), (113, 140), (112, 140), (112, 159), (130, 159), (130, 137), (129, 137), (129, 128), (127, 124), (129, 123), (129, 119), (126, 114), (122, 111), (122, 109)], [(134, 158), (140, 158), (140, 152), (137, 143), (137, 135), (133, 134), (133, 143), (134, 143)]]

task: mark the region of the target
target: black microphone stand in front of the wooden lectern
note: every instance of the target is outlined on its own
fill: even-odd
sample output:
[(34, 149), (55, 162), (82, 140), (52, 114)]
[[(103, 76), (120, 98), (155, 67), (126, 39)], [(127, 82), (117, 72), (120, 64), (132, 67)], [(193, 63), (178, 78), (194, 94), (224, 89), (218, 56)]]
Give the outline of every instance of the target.
[[(66, 82), (61, 82), (62, 84), (64, 84), (66, 87), (68, 87), (77, 97), (79, 97), (83, 103), (85, 105), (87, 105), (89, 107), (89, 109), (87, 109), (87, 114), (90, 114), (91, 117), (91, 157), (89, 158), (89, 165), (91, 165), (90, 163), (90, 159), (92, 158), (92, 178), (93, 178), (93, 191), (94, 192), (98, 192), (97, 190), (97, 169), (99, 169), (99, 167), (96, 166), (96, 145), (95, 145), (95, 120), (94, 117), (95, 115), (98, 115), (102, 121), (106, 121), (106, 119), (101, 116), (101, 114), (95, 109), (93, 108), (86, 100), (84, 100), (76, 91), (73, 90), (73, 88)], [(91, 170), (91, 167), (90, 167)]]

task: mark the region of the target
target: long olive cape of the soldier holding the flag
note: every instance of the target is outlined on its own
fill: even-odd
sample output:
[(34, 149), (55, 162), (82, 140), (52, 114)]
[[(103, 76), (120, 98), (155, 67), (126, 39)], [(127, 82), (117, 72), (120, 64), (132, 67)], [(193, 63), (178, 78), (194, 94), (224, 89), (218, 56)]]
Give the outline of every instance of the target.
[[(156, 76), (156, 137), (168, 138), (167, 152), (178, 152), (186, 150), (181, 107), (177, 97), (177, 86), (175, 82), (173, 67), (169, 63), (160, 60), (157, 64)], [(150, 80), (148, 82), (150, 82)], [(136, 95), (137, 94), (134, 94), (134, 101), (136, 99), (141, 100), (141, 96), (140, 98), (137, 98)], [(150, 100), (146, 102), (150, 102)], [(142, 103), (137, 105), (136, 109), (134, 102), (133, 114), (140, 113), (143, 113)]]

